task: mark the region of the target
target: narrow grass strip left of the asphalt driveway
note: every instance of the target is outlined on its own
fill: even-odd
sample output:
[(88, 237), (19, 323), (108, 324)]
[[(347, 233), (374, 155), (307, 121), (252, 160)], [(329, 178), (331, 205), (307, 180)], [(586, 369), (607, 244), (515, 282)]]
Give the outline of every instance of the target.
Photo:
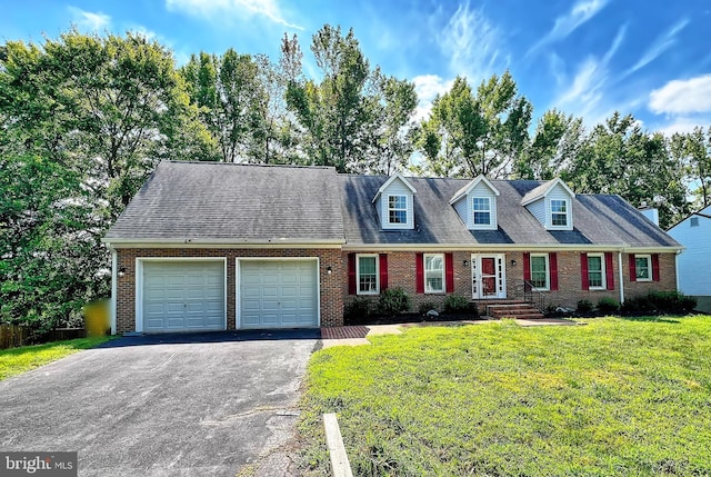
[(0, 380), (29, 371), (82, 349), (93, 348), (111, 338), (79, 338), (22, 348), (0, 349)]

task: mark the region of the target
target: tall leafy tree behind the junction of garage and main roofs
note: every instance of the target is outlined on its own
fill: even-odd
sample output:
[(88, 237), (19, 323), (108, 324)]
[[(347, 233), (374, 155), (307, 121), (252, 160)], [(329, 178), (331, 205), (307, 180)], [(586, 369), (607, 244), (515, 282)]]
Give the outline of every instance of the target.
[(297, 38), (282, 41), (287, 103), (301, 127), (304, 161), (341, 172), (401, 167), (411, 149), (413, 85), (371, 70), (352, 29), (343, 36), (340, 27), (326, 24), (313, 36), (311, 52), (320, 82), (303, 77)]

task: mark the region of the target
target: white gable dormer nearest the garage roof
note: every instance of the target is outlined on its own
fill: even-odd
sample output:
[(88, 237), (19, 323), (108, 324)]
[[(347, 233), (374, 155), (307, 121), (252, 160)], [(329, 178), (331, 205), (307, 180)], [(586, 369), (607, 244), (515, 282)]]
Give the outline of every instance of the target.
[(415, 192), (414, 187), (400, 172), (395, 172), (380, 186), (373, 203), (383, 230), (414, 229)]

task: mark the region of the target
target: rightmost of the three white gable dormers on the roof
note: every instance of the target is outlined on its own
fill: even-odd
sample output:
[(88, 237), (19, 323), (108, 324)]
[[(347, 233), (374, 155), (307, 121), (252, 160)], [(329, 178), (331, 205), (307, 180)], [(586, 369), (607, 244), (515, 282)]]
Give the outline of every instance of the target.
[(573, 229), (573, 198), (575, 195), (560, 178), (543, 182), (530, 190), (521, 205), (548, 230)]

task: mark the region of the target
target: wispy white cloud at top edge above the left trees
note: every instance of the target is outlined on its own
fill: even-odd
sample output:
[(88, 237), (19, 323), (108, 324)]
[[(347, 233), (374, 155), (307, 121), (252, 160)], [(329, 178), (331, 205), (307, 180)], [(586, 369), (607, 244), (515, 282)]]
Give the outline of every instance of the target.
[(266, 17), (287, 28), (303, 30), (303, 27), (286, 20), (276, 0), (166, 0), (166, 7), (207, 19)]

